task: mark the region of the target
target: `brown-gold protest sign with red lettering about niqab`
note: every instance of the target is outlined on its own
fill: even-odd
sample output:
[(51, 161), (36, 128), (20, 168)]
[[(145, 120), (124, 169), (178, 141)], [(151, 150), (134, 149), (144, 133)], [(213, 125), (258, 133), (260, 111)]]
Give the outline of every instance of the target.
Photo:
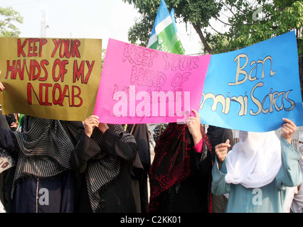
[(94, 112), (100, 39), (0, 38), (3, 114), (84, 121)]

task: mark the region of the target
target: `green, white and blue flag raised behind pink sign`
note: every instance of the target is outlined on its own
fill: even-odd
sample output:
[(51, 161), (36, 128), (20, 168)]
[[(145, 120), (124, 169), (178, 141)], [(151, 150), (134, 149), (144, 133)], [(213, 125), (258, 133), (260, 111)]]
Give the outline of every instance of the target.
[(151, 31), (147, 48), (184, 55), (184, 48), (176, 32), (174, 9), (169, 14), (164, 0), (161, 0), (156, 14), (154, 28)]

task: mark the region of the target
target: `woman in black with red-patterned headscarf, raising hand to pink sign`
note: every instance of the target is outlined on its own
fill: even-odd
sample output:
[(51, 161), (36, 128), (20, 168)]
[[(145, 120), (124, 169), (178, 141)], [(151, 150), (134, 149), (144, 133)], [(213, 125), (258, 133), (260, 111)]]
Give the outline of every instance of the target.
[(149, 172), (149, 212), (211, 211), (211, 144), (197, 111), (187, 124), (169, 123)]

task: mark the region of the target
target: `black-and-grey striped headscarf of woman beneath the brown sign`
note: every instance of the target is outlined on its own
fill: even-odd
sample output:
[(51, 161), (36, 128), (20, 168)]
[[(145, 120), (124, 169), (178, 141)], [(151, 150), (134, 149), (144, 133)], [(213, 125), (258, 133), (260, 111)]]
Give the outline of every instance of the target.
[(60, 121), (27, 116), (23, 132), (13, 132), (19, 157), (15, 179), (23, 174), (51, 177), (70, 169), (73, 144)]

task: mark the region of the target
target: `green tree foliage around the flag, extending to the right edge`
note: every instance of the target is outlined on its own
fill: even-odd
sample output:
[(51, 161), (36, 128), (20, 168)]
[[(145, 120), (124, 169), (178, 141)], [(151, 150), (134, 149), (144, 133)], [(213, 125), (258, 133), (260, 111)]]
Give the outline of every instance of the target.
[[(141, 14), (130, 28), (129, 41), (147, 45), (160, 0), (123, 0)], [(227, 52), (296, 31), (299, 55), (303, 54), (302, 0), (165, 0), (176, 18), (195, 28), (205, 52)], [(228, 15), (222, 19), (221, 15)], [(225, 24), (225, 31), (211, 26), (211, 19)]]

